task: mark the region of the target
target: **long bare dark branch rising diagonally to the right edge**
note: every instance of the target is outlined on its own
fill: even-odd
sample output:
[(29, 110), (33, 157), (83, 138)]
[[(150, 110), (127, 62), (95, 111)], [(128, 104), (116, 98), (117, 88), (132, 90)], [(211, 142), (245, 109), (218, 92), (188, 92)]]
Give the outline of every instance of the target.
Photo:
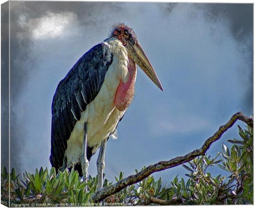
[(109, 187), (103, 187), (102, 189), (96, 191), (91, 199), (94, 202), (102, 201), (105, 199), (107, 196), (110, 196), (112, 194), (115, 194), (125, 187), (128, 187), (131, 184), (135, 184), (137, 182), (142, 181), (152, 173), (161, 171), (161, 170), (166, 170), (168, 168), (173, 168), (175, 166), (181, 165), (183, 163), (186, 163), (188, 161), (191, 161), (192, 159), (196, 158), (197, 156), (204, 155), (206, 151), (209, 149), (211, 144), (213, 142), (216, 142), (220, 137), (223, 135), (225, 131), (227, 131), (229, 128), (234, 125), (234, 123), (237, 121), (243, 121), (247, 123), (249, 126), (253, 127), (253, 119), (245, 116), (242, 112), (235, 113), (228, 123), (220, 126), (220, 128), (215, 132), (215, 134), (204, 142), (203, 146), (200, 149), (195, 149), (194, 151), (186, 154), (185, 156), (178, 156), (175, 157), (169, 161), (160, 161), (159, 163), (156, 163), (154, 165), (149, 165), (147, 168), (144, 170), (141, 170), (139, 173), (135, 175), (130, 175), (123, 180), (120, 180), (119, 182), (112, 184)]

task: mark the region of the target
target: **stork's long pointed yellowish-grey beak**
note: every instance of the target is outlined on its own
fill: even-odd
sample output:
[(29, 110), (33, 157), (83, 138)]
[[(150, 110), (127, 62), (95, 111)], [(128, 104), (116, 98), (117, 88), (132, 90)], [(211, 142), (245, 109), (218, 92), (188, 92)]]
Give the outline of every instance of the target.
[(140, 66), (140, 69), (142, 69), (147, 74), (147, 76), (156, 84), (156, 86), (159, 87), (160, 90), (164, 91), (164, 88), (156, 74), (156, 71), (154, 70), (145, 51), (143, 50), (138, 41), (137, 43), (130, 45), (129, 55), (133, 59), (133, 61), (138, 66)]

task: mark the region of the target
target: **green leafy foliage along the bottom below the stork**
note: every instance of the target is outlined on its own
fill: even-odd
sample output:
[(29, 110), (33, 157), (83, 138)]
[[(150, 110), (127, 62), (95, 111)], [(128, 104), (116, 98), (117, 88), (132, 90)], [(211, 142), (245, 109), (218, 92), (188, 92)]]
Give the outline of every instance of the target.
[[(253, 129), (243, 130), (238, 126), (240, 140), (230, 139), (229, 149), (225, 144), (222, 151), (211, 156), (199, 156), (183, 167), (188, 171), (187, 178), (176, 176), (170, 185), (163, 185), (161, 178), (151, 175), (118, 193), (107, 197), (103, 205), (149, 205), (149, 204), (252, 204), (253, 203)], [(209, 167), (216, 166), (227, 175), (214, 176)], [(145, 167), (144, 167), (145, 168)], [(136, 173), (138, 172), (135, 170)], [(123, 179), (121, 172), (116, 181)], [(10, 183), (9, 183), (10, 182)], [(104, 187), (112, 182), (104, 180)], [(10, 190), (9, 190), (10, 189)], [(88, 191), (86, 191), (88, 189)], [(88, 182), (71, 172), (36, 169), (35, 174), (16, 175), (14, 168), (1, 174), (2, 201), (12, 203), (40, 203), (45, 206), (88, 206), (94, 204), (90, 197), (97, 189), (97, 177), (89, 176)], [(10, 196), (9, 196), (10, 191)], [(152, 199), (158, 199), (154, 201)]]

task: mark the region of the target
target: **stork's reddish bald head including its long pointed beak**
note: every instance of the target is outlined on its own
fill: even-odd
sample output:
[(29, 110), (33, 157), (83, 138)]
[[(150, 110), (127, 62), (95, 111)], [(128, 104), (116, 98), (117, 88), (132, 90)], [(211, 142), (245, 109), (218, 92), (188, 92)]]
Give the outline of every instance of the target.
[(119, 39), (123, 43), (123, 46), (126, 47), (130, 58), (140, 66), (157, 87), (164, 90), (156, 71), (151, 65), (132, 28), (123, 23), (116, 24), (113, 26), (110, 37)]

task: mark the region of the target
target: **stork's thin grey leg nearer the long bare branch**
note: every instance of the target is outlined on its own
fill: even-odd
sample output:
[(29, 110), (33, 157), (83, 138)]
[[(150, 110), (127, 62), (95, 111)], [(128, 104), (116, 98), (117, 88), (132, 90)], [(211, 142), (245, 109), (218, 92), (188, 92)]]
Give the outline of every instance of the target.
[(103, 171), (105, 168), (105, 150), (107, 145), (107, 138), (101, 142), (100, 153), (97, 159), (97, 171), (98, 171), (98, 190), (103, 186)]

